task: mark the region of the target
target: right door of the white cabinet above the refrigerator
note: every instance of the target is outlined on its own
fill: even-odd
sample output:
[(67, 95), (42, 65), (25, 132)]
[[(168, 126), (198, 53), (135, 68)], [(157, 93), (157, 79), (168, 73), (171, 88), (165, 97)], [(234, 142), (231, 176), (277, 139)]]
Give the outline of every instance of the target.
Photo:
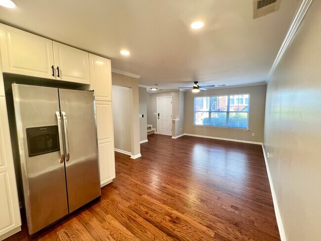
[(55, 41), (53, 52), (57, 79), (90, 84), (88, 52)]

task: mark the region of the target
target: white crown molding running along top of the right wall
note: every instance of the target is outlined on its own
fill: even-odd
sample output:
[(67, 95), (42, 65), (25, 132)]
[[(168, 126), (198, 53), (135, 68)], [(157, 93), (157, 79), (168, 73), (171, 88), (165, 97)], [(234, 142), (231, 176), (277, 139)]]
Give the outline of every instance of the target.
[(299, 29), (304, 17), (307, 15), (307, 12), (308, 12), (312, 2), (313, 2), (313, 0), (302, 0), (301, 1), (298, 9), (296, 10), (296, 12), (294, 14), (294, 17), (293, 17), (290, 27), (286, 33), (286, 36), (282, 42), (281, 48), (278, 52), (278, 55), (277, 55), (276, 59), (274, 60), (274, 63), (271, 67), (271, 70), (270, 70), (269, 75), (266, 79), (266, 82), (269, 82), (273, 72), (275, 71), (278, 64), (280, 63), (285, 50), (289, 46), (290, 42), (294, 39), (294, 36), (298, 32), (298, 29)]

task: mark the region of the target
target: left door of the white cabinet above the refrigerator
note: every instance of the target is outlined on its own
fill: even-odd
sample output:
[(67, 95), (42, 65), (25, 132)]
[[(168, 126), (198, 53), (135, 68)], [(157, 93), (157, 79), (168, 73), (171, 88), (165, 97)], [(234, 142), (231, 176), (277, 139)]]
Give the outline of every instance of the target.
[(3, 72), (55, 79), (52, 41), (0, 24)]

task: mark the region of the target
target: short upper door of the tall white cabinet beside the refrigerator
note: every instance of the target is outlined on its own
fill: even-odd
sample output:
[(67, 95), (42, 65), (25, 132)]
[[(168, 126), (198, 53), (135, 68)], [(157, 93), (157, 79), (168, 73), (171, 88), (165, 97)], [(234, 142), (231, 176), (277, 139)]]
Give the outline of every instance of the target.
[(109, 59), (89, 53), (90, 89), (95, 99), (112, 101), (112, 68)]

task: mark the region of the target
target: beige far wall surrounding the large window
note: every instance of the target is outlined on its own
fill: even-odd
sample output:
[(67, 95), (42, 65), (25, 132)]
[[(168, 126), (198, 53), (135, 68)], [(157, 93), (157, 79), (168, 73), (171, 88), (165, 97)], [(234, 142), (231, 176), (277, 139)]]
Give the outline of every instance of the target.
[[(248, 131), (228, 128), (193, 126), (195, 96), (247, 93), (250, 94)], [(263, 142), (265, 94), (266, 85), (216, 88), (201, 90), (196, 94), (192, 91), (185, 92), (185, 133), (243, 141)], [(255, 133), (255, 136), (252, 136), (252, 132)]]

